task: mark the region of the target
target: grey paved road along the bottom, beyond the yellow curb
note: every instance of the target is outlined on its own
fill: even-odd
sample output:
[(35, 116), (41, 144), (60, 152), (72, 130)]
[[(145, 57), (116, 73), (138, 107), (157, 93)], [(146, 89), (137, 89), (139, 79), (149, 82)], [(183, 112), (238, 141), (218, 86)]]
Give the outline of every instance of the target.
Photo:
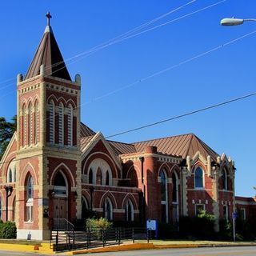
[[(25, 254), (0, 250), (0, 255), (32, 256), (43, 254)], [(49, 254), (48, 254), (49, 255)], [(55, 254), (56, 255), (56, 254)], [(61, 254), (58, 254), (61, 255)], [(102, 254), (79, 254), (86, 256), (255, 256), (256, 246), (238, 247), (210, 247), (210, 248), (189, 248), (189, 249), (165, 249), (165, 250), (130, 250)]]

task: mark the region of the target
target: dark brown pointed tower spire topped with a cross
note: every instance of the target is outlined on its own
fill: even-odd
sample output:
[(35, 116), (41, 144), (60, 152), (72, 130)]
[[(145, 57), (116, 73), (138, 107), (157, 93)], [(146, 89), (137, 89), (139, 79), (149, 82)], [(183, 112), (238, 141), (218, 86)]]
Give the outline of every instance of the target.
[(34, 54), (30, 67), (26, 72), (25, 79), (33, 78), (40, 74), (40, 66), (43, 64), (45, 66), (46, 75), (71, 81), (70, 74), (66, 68), (61, 51), (58, 48), (58, 43), (54, 38), (54, 33), (50, 26), (51, 15), (49, 12), (46, 14), (46, 18), (46, 30), (42, 36), (38, 50)]

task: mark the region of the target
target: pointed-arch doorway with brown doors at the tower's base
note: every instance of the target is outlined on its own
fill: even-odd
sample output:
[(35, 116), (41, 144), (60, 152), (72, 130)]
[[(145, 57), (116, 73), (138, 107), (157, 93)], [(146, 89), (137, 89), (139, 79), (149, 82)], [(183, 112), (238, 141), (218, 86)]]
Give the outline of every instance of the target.
[(68, 219), (68, 183), (62, 171), (54, 178), (54, 218)]

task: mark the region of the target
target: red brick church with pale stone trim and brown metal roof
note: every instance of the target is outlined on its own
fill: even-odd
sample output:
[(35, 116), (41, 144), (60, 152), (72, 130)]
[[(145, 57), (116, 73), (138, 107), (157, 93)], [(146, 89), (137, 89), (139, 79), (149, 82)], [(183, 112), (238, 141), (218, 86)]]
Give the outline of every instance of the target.
[[(203, 209), (216, 229), (231, 218), (235, 168), (226, 154), (194, 134), (106, 140), (80, 120), (81, 86), (48, 24), (26, 75), (18, 74), (17, 132), (0, 162), (0, 218), (16, 222), (18, 238), (47, 239), (53, 218), (74, 222), (89, 210), (114, 222), (178, 223)], [(246, 200), (245, 214), (255, 204)]]

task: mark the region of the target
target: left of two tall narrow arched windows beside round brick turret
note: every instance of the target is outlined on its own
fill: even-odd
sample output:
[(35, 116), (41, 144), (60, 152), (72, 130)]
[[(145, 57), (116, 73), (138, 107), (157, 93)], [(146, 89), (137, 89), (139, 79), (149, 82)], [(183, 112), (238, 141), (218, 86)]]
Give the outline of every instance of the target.
[(161, 221), (168, 222), (168, 200), (167, 200), (167, 181), (164, 170), (160, 171), (161, 180)]

